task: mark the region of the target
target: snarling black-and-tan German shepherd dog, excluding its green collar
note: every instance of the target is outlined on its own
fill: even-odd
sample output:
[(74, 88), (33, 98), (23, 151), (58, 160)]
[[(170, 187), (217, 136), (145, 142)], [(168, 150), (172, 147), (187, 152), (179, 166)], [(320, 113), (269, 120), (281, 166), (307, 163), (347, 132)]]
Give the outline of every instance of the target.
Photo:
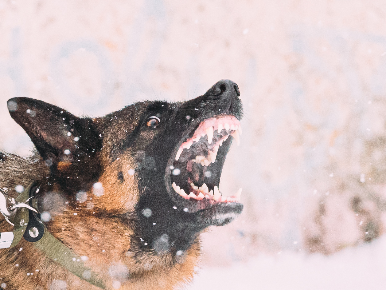
[[(239, 96), (237, 84), (220, 80), (190, 101), (137, 102), (100, 118), (12, 98), (10, 115), (36, 151), (26, 159), (0, 152), (3, 212), (22, 210), (11, 201), (34, 183), (37, 220), (82, 257), (101, 288), (182, 287), (199, 263), (200, 233), (242, 212), (241, 190), (227, 197), (218, 189), (232, 140), (239, 143)], [(0, 215), (0, 232), (14, 230), (8, 220)], [(100, 289), (24, 238), (0, 249), (0, 285)]]

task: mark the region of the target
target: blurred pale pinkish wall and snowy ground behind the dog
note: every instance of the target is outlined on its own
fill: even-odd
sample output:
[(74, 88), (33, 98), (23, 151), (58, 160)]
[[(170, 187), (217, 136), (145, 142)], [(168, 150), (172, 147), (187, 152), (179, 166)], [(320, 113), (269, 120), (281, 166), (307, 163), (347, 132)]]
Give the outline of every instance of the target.
[(220, 188), (244, 213), (203, 234), (195, 289), (386, 288), (386, 2), (0, 0), (6, 101), (99, 116), (222, 78), (245, 106)]

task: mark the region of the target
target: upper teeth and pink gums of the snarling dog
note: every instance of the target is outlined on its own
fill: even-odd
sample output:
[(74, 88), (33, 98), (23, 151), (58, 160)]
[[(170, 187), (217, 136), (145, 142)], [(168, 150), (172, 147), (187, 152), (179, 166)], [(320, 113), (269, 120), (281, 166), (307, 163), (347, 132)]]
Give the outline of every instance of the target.
[[(234, 132), (231, 134), (231, 136), (235, 139), (237, 145), (240, 145), (240, 136), (242, 131), (241, 131), (241, 125), (240, 121), (237, 120), (234, 116), (226, 116), (220, 119), (216, 118), (209, 118), (206, 119), (205, 121), (201, 122), (196, 131), (194, 132), (193, 137), (191, 137), (189, 140), (186, 142), (182, 143), (181, 146), (178, 148), (177, 155), (175, 160), (178, 161), (179, 156), (183, 152), (185, 148), (189, 149), (193, 142), (198, 142), (202, 136), (207, 136), (208, 138), (208, 143), (211, 144), (213, 141), (213, 132), (214, 130), (217, 130), (217, 133), (220, 133), (221, 130), (225, 129), (226, 131), (233, 130)], [(228, 138), (229, 135), (225, 136), (218, 142), (218, 145), (221, 146), (222, 142), (225, 141)], [(215, 149), (216, 155), (217, 155), (217, 150), (218, 150), (218, 145), (217, 149)], [(210, 155), (210, 152), (208, 152)], [(212, 156), (211, 156), (212, 157)], [(216, 158), (210, 158), (210, 162), (214, 162)], [(200, 163), (200, 162), (198, 162)], [(208, 164), (209, 164), (208, 163)]]

